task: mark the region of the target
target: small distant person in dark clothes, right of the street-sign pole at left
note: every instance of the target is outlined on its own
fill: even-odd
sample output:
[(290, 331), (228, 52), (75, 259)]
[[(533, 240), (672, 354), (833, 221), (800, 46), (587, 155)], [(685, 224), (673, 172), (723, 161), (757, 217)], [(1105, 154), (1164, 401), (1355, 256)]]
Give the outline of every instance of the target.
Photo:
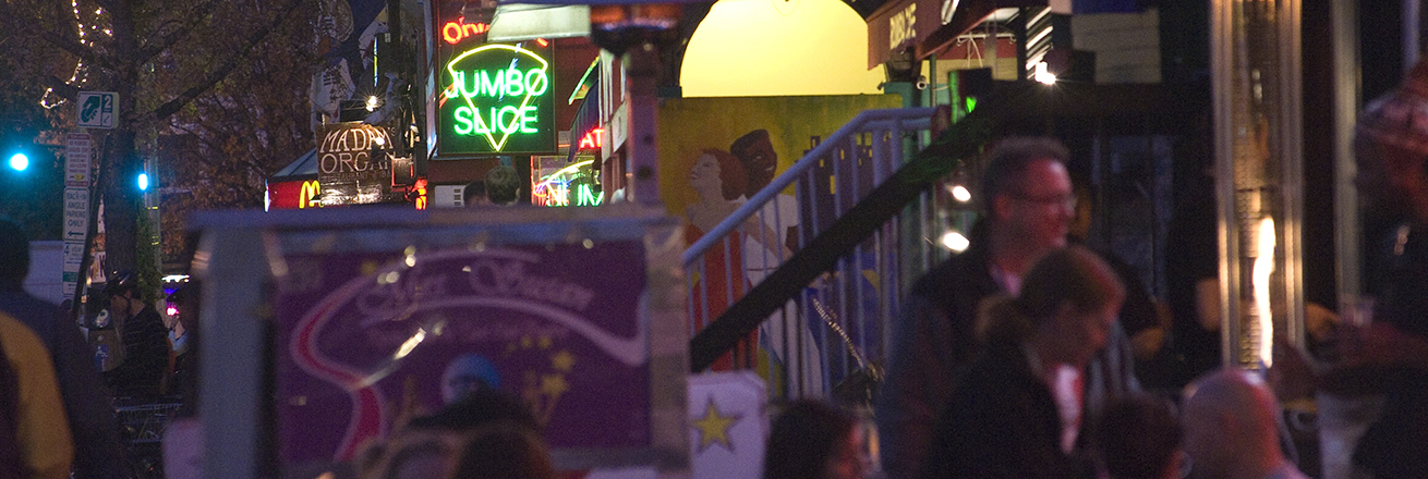
[(137, 278), (129, 272), (110, 275), (104, 284), (109, 312), (124, 344), (124, 362), (107, 372), (116, 395), (136, 402), (153, 402), (163, 392), (169, 374), (169, 328), (159, 311), (144, 301)]

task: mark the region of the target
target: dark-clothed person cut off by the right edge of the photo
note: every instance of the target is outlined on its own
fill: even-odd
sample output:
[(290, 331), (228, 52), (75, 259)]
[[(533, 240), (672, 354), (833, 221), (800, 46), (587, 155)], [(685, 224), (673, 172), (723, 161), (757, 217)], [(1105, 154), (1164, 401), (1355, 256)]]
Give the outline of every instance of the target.
[(1428, 478), (1428, 61), (1369, 103), (1354, 147), (1365, 212), (1398, 225), (1384, 231), (1369, 268), (1372, 322), (1341, 325), (1331, 376), (1384, 383), (1384, 413), (1354, 463), (1375, 478)]

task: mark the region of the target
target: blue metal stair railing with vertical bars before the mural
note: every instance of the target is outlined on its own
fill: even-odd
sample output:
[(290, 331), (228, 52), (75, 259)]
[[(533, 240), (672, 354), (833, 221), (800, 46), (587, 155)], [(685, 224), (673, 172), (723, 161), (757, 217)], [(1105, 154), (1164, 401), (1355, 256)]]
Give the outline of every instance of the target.
[(975, 151), (964, 120), (904, 164), (934, 114), (858, 114), (684, 252), (693, 371), (767, 366), (784, 396), (875, 379), (902, 285), (947, 254), (927, 187)]

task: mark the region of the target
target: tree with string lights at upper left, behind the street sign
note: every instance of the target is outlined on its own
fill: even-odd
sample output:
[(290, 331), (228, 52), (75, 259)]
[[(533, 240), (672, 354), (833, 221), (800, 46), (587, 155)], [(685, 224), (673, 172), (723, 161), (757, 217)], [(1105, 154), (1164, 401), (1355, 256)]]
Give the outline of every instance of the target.
[[(188, 211), (261, 207), (263, 178), (311, 148), (306, 90), (317, 64), (317, 7), (306, 0), (0, 1), (0, 118), (13, 114), (11, 105), (40, 110), (53, 120), (44, 127), (63, 138), (73, 131), (74, 105), (61, 98), (79, 90), (120, 94), (119, 127), (91, 131), (99, 177), (113, 171), (94, 194), (110, 205), (109, 267), (139, 269), (149, 261), (134, 257), (143, 249), (136, 245), (149, 241), (130, 220), (141, 211), (120, 201), (131, 182), (117, 178), (136, 161), (159, 158), (159, 184), (190, 192), (154, 225), (169, 232), (164, 238), (183, 238)], [(56, 90), (46, 94), (46, 87)], [(39, 108), (41, 97), (60, 104)]]

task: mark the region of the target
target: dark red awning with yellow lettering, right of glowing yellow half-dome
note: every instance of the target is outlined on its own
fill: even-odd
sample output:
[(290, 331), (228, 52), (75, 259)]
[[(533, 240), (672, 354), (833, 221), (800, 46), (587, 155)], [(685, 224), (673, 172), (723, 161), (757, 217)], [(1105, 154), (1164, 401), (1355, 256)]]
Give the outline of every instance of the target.
[(997, 9), (1045, 7), (1047, 0), (897, 0), (868, 16), (868, 68), (894, 51), (925, 58), (957, 40)]

